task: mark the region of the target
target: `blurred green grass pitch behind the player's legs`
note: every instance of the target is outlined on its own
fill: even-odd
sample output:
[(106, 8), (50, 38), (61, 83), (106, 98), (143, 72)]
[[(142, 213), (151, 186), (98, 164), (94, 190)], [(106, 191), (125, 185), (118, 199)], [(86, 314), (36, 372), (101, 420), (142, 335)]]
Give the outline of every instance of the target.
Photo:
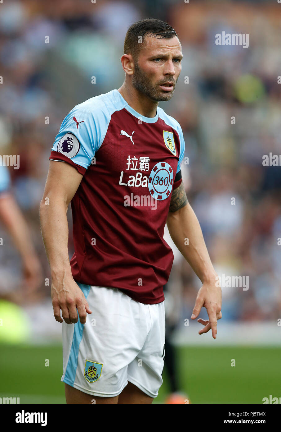
[[(269, 394), (281, 396), (279, 347), (184, 346), (176, 352), (178, 381), (191, 403), (261, 404)], [(168, 373), (165, 368), (153, 403), (164, 403), (169, 394)], [(20, 403), (65, 403), (61, 375), (60, 345), (0, 345), (0, 397), (20, 397)]]

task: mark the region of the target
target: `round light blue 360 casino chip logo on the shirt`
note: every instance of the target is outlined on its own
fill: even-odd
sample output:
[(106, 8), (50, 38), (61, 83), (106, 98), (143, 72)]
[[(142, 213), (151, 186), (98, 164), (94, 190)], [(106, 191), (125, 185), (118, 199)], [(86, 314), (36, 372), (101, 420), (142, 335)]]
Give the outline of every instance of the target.
[(153, 167), (149, 179), (148, 189), (155, 200), (165, 200), (173, 188), (174, 173), (166, 162), (158, 162)]

